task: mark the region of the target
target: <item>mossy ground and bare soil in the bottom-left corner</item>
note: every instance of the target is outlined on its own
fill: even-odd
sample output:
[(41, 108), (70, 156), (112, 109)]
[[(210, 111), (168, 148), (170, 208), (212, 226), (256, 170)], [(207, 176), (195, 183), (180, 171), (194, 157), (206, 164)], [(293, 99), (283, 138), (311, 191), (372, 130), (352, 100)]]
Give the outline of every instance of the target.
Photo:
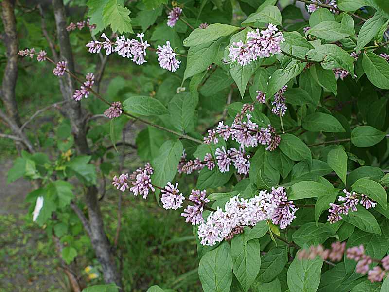
[(0, 165), (0, 292), (67, 291), (45, 231), (26, 216), (30, 182), (7, 185), (12, 160)]

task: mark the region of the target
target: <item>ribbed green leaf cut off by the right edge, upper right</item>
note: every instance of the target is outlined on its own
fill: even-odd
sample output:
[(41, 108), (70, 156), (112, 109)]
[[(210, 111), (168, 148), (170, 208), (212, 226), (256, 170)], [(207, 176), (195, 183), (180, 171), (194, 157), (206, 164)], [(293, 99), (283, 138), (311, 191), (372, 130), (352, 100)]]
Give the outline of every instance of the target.
[(369, 81), (378, 88), (389, 89), (389, 64), (372, 52), (363, 53), (362, 67)]

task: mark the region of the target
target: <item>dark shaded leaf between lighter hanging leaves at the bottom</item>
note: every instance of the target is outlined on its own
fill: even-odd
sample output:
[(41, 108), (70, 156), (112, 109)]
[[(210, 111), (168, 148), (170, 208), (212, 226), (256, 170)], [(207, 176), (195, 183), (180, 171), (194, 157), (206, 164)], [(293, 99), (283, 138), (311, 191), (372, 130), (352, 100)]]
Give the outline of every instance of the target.
[(261, 257), (261, 269), (257, 280), (259, 282), (270, 282), (281, 273), (288, 262), (288, 251), (285, 246), (271, 249)]

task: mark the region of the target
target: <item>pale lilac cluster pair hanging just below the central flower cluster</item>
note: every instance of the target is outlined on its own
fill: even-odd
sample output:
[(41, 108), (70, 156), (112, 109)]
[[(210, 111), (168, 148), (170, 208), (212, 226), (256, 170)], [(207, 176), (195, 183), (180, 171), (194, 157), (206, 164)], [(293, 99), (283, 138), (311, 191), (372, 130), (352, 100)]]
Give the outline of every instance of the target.
[(216, 149), (215, 156), (220, 172), (230, 171), (231, 164), (234, 164), (239, 174), (248, 174), (250, 170), (250, 155), (245, 153), (244, 147), (240, 147), (239, 150), (235, 148), (226, 150), (223, 146)]

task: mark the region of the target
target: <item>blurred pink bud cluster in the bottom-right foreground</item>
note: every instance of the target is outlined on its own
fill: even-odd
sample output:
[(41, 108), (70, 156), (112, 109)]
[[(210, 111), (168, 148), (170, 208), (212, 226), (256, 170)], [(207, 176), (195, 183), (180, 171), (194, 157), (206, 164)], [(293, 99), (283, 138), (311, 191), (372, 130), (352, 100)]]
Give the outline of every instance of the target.
[[(320, 256), (324, 260), (329, 258), (333, 261), (340, 261), (345, 254), (346, 242), (334, 242), (331, 244), (331, 249), (324, 249), (322, 245), (311, 246), (309, 250), (300, 250), (298, 253), (299, 259), (315, 259)], [(371, 282), (381, 282), (389, 272), (389, 256), (385, 256), (383, 259), (373, 259), (366, 255), (365, 248), (361, 244), (360, 246), (354, 246), (346, 250), (346, 257), (354, 259), (356, 264), (355, 271), (359, 274), (368, 274), (368, 280)], [(373, 262), (378, 263), (378, 266), (370, 269), (369, 265)]]

